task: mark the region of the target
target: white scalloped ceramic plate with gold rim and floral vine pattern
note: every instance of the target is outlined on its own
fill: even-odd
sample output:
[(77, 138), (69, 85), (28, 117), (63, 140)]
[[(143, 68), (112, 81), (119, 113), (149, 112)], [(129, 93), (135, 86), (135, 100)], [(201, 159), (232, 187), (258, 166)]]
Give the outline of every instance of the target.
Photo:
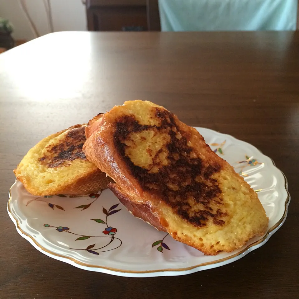
[(19, 234), (40, 252), (86, 270), (152, 277), (188, 274), (234, 262), (265, 244), (285, 221), (290, 201), (287, 181), (254, 146), (209, 129), (197, 130), (258, 192), (269, 217), (267, 233), (234, 252), (205, 256), (135, 218), (110, 190), (89, 197), (36, 197), (16, 181), (10, 190), (8, 214)]

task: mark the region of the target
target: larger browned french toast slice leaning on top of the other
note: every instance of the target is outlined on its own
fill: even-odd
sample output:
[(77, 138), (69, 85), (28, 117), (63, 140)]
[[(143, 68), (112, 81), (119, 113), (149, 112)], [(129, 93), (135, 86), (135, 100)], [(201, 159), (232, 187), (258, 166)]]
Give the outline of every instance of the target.
[(207, 255), (263, 235), (268, 218), (257, 194), (164, 107), (128, 101), (86, 128), (83, 152), (115, 183), (133, 215)]

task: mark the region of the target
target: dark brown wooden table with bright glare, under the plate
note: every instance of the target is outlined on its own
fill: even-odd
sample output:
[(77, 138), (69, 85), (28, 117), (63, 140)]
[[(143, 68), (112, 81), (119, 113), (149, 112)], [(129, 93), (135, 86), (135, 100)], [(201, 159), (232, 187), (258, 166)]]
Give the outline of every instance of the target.
[[(299, 33), (55, 33), (0, 55), (0, 298), (299, 298)], [(285, 224), (235, 263), (122, 278), (51, 259), (6, 211), (12, 169), (43, 137), (132, 99), (245, 140), (286, 174)]]

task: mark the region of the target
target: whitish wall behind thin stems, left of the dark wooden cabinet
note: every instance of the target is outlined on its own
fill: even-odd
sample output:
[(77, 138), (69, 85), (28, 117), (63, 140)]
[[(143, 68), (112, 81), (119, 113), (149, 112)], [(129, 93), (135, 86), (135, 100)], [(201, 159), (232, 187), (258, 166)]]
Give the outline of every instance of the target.
[[(26, 0), (26, 3), (40, 35), (49, 33), (43, 0)], [(50, 3), (54, 31), (87, 30), (85, 6), (81, 0), (50, 0)], [(15, 39), (35, 37), (18, 0), (0, 0), (0, 17), (12, 22)]]

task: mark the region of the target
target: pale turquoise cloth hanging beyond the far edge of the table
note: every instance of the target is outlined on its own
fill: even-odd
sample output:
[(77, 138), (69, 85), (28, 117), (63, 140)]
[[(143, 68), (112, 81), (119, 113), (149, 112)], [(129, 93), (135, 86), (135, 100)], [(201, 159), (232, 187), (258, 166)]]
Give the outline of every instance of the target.
[(297, 0), (159, 0), (161, 31), (296, 30)]

